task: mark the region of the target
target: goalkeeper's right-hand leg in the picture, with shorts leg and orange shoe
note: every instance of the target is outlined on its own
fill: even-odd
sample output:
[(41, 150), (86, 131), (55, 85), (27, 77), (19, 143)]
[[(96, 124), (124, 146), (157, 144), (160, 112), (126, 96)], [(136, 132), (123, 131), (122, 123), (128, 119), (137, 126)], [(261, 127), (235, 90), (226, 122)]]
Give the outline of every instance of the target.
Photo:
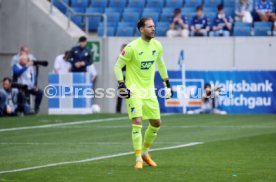
[(157, 164), (151, 159), (148, 152), (161, 125), (159, 103), (156, 98), (143, 100), (143, 119), (149, 119), (149, 125), (144, 135), (142, 158), (149, 166), (155, 167)]

